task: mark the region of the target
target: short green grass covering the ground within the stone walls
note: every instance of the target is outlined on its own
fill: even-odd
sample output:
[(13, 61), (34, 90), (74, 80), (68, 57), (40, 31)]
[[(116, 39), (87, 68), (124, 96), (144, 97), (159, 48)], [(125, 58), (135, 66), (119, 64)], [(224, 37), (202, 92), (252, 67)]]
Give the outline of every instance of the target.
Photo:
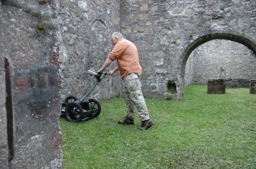
[(206, 94), (186, 87), (184, 100), (147, 99), (154, 126), (120, 126), (122, 98), (101, 102), (98, 118), (60, 120), (64, 168), (255, 168), (256, 95), (247, 88)]

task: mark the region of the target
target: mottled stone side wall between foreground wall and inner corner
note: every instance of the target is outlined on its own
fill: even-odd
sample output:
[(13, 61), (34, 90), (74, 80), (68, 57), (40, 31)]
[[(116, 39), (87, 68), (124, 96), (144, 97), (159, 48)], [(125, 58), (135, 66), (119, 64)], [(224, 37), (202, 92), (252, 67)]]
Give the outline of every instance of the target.
[[(87, 70), (97, 71), (112, 49), (110, 36), (112, 32), (120, 30), (119, 2), (60, 2), (62, 100), (69, 94), (82, 97), (96, 80), (87, 73)], [(92, 92), (91, 97), (102, 99), (117, 96), (120, 92), (119, 81), (118, 75), (108, 82), (102, 81)]]

